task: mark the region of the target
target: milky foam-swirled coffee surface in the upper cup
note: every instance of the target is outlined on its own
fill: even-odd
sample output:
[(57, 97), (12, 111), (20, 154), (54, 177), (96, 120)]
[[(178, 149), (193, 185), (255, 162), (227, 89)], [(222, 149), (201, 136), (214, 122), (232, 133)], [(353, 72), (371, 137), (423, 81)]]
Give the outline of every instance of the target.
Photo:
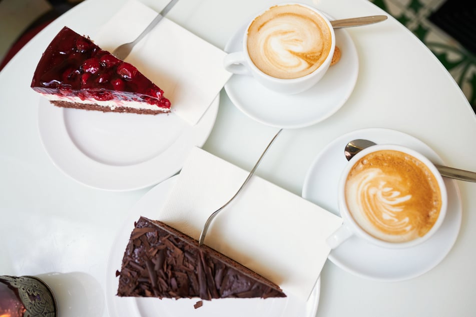
[(313, 72), (327, 58), (331, 46), (326, 21), (299, 4), (272, 6), (248, 27), (251, 60), (276, 78), (298, 78)]

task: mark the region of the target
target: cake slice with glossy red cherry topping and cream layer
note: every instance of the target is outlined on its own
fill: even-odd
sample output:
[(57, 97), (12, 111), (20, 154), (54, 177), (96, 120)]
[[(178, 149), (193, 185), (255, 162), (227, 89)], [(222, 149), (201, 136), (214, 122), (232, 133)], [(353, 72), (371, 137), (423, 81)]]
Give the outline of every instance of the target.
[(136, 67), (67, 26), (43, 53), (31, 87), (60, 107), (144, 114), (170, 111), (164, 91)]

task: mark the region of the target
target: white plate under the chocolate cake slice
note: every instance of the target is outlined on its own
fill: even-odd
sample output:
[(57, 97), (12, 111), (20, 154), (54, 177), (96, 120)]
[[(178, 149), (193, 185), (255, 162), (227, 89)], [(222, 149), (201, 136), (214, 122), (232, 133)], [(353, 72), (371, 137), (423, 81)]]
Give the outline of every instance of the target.
[(119, 277), (116, 270), (121, 269), (122, 258), (129, 241), (134, 221), (146, 216), (157, 218), (168, 197), (177, 176), (173, 176), (152, 188), (132, 208), (123, 227), (113, 243), (106, 270), (106, 302), (110, 316), (247, 316), (247, 317), (314, 317), (317, 311), (320, 291), (318, 279), (307, 302), (291, 295), (285, 298), (224, 298), (204, 300), (203, 306), (195, 309), (193, 305), (199, 298), (158, 299), (116, 296)]

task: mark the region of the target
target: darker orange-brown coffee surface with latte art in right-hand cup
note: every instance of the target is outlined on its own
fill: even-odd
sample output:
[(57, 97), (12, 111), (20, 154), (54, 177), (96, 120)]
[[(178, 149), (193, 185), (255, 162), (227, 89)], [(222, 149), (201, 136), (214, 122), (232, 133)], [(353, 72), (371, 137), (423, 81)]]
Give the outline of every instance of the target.
[(378, 150), (360, 158), (345, 183), (345, 202), (357, 224), (388, 242), (425, 235), (441, 209), (441, 191), (431, 170), (397, 150)]

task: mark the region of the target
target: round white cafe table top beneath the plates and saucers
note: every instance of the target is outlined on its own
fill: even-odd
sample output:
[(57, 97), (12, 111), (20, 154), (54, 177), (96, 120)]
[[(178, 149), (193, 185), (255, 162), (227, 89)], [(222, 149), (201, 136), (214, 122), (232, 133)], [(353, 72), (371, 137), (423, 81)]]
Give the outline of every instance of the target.
[[(29, 85), (43, 50), (62, 26), (93, 36), (125, 2), (86, 0), (78, 4), (34, 37), (0, 72), (0, 274), (55, 276), (55, 272), (60, 277), (76, 276), (74, 282), (65, 282), (61, 294), (61, 300), (71, 304), (67, 315), (72, 316), (109, 315), (107, 296), (112, 295), (106, 294), (106, 280), (114, 274), (108, 268), (111, 248), (131, 208), (154, 184), (108, 190), (88, 186), (62, 172), (45, 150), (39, 132), (40, 96)], [(166, 4), (166, 0), (142, 2), (157, 11)], [(386, 14), (366, 0), (303, 2), (332, 18)], [(274, 3), (180, 0), (167, 17), (226, 50), (230, 38), (254, 12)], [(333, 212), (336, 210), (330, 210), (333, 206), (327, 201), (333, 198), (326, 196), (325, 188), (326, 183), (335, 183), (335, 175), (315, 175), (323, 188), (321, 194), (312, 191), (309, 174), (321, 167), (320, 163), (331, 166), (325, 159), (326, 151), (330, 153), (329, 144), (336, 147), (341, 143), (335, 140), (342, 142), (347, 135), (357, 135), (355, 131), (376, 139), (388, 136), (389, 141), (395, 135), (405, 135), (408, 141), (431, 148), (446, 165), (476, 170), (476, 117), (432, 52), (391, 16), (384, 22), (346, 28), (344, 32), (355, 46), (354, 60), (327, 87), (339, 91), (338, 104), (332, 111), (315, 122), (275, 124), (237, 106), (228, 89), (222, 88), (215, 122), (201, 147), (250, 170), (268, 141), (283, 127), (256, 174), (316, 204), (321, 202), (315, 198), (320, 195), (322, 207)], [(343, 50), (342, 58), (350, 52), (350, 48)], [(345, 85), (347, 90), (341, 91)], [(246, 95), (247, 91), (241, 93)], [(319, 95), (314, 102), (320, 106)], [(299, 106), (288, 105), (290, 116), (299, 111)], [(344, 159), (343, 148), (341, 157), (337, 157), (340, 149), (338, 153), (332, 159)], [(476, 184), (446, 181), (452, 195), (448, 209), (451, 232), (443, 236), (441, 245), (431, 245), (433, 255), (429, 256), (434, 259), (425, 259), (424, 251), (421, 256), (408, 258), (404, 264), (409, 268), (400, 271), (392, 266), (391, 259), (382, 262), (389, 267), (367, 269), (365, 265), (342, 264), (338, 256), (334, 260), (329, 257), (320, 274), (312, 314), (474, 315)], [(367, 253), (362, 252), (365, 256)], [(424, 262), (420, 267), (412, 266), (419, 261)]]

